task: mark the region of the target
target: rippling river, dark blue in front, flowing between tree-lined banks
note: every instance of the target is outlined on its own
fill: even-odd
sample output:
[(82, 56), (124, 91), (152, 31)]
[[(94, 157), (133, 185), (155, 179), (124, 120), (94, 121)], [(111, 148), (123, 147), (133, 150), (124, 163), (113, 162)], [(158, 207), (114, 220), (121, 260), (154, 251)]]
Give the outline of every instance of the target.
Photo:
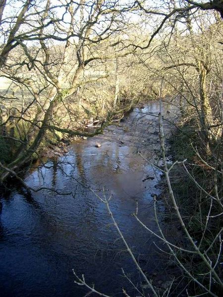
[[(72, 144), (65, 156), (36, 165), (25, 179), (33, 188), (73, 196), (48, 190), (27, 195), (15, 187), (0, 198), (1, 297), (84, 296), (88, 290), (74, 283), (72, 268), (105, 294), (123, 296), (124, 287), (135, 296), (121, 268), (135, 284), (140, 284), (138, 272), (105, 205), (89, 188), (102, 195), (105, 187), (106, 195), (113, 195), (111, 210), (139, 263), (149, 275), (163, 274), (156, 238), (131, 215), (138, 201), (143, 222), (157, 230), (151, 194), (159, 194), (161, 172), (137, 151), (159, 163), (158, 112), (158, 102), (135, 109), (123, 127), (110, 126), (104, 135)], [(168, 123), (165, 127), (169, 131)], [(95, 148), (96, 143), (102, 147)], [(151, 179), (143, 181), (148, 175)]]

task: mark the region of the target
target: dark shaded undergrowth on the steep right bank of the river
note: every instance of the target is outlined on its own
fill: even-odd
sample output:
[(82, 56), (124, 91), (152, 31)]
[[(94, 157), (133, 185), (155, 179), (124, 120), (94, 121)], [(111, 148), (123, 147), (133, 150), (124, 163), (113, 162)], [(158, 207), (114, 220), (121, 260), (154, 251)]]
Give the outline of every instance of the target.
[(178, 128), (170, 139), (169, 153), (176, 162), (168, 165), (172, 193), (167, 181), (162, 183), (164, 221), (170, 226), (166, 238), (174, 245), (170, 259), (189, 295), (222, 296), (222, 138), (207, 152), (193, 121)]

